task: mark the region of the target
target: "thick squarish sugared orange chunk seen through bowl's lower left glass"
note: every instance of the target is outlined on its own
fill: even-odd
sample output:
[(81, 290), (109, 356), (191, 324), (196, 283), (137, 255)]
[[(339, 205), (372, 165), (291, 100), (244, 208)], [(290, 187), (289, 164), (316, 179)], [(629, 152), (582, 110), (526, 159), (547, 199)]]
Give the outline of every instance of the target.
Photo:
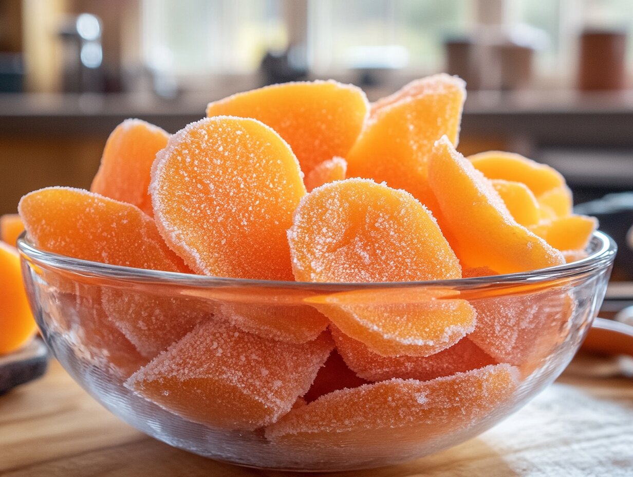
[(185, 419), (227, 429), (273, 423), (304, 395), (333, 348), (324, 333), (292, 345), (202, 322), (125, 385)]

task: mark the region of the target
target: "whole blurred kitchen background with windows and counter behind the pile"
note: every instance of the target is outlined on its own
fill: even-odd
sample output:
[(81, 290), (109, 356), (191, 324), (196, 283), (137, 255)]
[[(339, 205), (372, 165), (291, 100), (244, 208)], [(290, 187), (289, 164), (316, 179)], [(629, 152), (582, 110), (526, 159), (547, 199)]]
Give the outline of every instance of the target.
[(208, 101), (334, 78), (370, 99), (446, 71), (468, 82), (462, 153), (505, 149), (560, 170), (620, 241), (633, 223), (630, 0), (1, 0), (0, 213), (87, 188), (109, 132), (170, 132)]

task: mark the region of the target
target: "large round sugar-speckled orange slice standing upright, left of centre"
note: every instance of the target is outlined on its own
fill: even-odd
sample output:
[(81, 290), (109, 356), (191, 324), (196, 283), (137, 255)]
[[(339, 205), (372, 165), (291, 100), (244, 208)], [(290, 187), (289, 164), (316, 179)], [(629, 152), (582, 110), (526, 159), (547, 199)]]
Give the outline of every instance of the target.
[(222, 116), (188, 125), (158, 154), (150, 192), (159, 231), (196, 272), (293, 279), (286, 231), (306, 189), (270, 127)]

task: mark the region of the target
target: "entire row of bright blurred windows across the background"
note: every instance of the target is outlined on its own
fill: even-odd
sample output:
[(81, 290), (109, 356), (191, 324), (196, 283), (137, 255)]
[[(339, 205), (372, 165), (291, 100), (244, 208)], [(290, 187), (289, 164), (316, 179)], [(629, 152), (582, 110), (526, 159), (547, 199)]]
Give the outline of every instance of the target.
[(446, 37), (490, 23), (546, 39), (536, 54), (541, 77), (575, 75), (585, 26), (622, 27), (633, 61), (630, 0), (141, 1), (144, 63), (179, 76), (254, 73), (263, 54), (287, 48), (290, 37), (305, 42), (316, 76), (364, 67), (432, 73), (443, 68)]

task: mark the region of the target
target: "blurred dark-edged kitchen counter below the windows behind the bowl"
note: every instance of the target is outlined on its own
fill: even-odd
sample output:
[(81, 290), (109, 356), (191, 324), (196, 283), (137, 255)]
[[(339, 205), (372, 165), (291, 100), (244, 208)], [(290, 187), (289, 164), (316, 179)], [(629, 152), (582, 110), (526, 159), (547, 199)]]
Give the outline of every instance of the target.
[[(390, 91), (370, 94), (374, 99)], [(230, 91), (160, 99), (135, 94), (2, 94), (1, 135), (107, 134), (123, 119), (139, 117), (175, 132), (204, 116), (209, 101)], [(633, 146), (633, 90), (475, 91), (468, 93), (461, 130), (466, 134), (519, 135), (538, 145)]]

